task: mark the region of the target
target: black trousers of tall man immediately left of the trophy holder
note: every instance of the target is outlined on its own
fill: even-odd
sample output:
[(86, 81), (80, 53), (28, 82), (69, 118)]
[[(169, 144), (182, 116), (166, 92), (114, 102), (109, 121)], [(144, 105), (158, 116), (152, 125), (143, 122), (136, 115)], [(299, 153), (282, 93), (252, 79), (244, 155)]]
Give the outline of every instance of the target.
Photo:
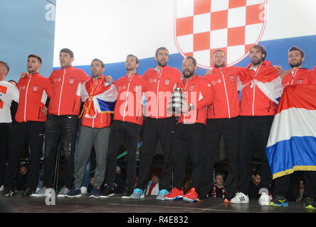
[(158, 140), (162, 145), (164, 167), (159, 179), (159, 190), (172, 187), (172, 140), (177, 123), (174, 116), (169, 118), (147, 118), (143, 125), (142, 147), (139, 150), (139, 174), (136, 187), (146, 189)]

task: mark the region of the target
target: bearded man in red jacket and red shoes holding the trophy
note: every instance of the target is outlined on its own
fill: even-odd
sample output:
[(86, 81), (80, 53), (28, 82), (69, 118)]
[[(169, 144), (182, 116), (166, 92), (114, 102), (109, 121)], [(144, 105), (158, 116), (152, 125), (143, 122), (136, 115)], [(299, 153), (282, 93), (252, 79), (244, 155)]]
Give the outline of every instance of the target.
[[(172, 150), (172, 166), (174, 167), (174, 189), (164, 196), (166, 200), (182, 199), (194, 202), (198, 199), (199, 187), (203, 179), (203, 138), (206, 125), (207, 110), (213, 100), (211, 85), (204, 77), (195, 73), (196, 60), (186, 57), (183, 62), (183, 79), (181, 87), (184, 91), (184, 105), (179, 117), (177, 131), (174, 134)], [(186, 176), (186, 160), (190, 156), (192, 162), (192, 187), (184, 195), (184, 178)]]

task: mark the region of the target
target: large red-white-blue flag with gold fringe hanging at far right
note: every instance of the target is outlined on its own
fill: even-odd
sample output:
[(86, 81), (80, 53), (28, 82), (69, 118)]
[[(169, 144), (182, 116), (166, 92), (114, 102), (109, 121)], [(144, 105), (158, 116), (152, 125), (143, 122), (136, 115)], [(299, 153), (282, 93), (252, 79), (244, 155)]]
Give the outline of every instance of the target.
[(273, 179), (295, 170), (316, 171), (316, 85), (285, 87), (267, 154)]

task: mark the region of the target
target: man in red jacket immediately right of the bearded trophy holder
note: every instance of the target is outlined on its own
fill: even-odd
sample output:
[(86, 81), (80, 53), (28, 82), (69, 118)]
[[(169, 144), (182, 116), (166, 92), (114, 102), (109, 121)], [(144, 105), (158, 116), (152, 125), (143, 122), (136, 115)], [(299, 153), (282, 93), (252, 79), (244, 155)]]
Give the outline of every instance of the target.
[(204, 134), (204, 184), (199, 199), (205, 199), (213, 186), (213, 170), (216, 151), (221, 135), (228, 156), (229, 173), (226, 179), (225, 198), (231, 200), (238, 187), (238, 74), (241, 67), (226, 67), (226, 55), (223, 50), (213, 52), (214, 68), (212, 74), (206, 74), (213, 90), (213, 104), (207, 111)]

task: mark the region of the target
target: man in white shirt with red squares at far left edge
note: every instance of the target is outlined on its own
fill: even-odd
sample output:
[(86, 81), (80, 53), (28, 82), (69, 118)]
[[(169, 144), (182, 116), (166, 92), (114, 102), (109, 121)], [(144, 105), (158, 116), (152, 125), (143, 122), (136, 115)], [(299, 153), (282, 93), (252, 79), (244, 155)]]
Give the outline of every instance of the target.
[(11, 138), (11, 103), (12, 101), (19, 102), (19, 89), (4, 81), (9, 70), (9, 65), (4, 61), (0, 61), (0, 186), (4, 183), (6, 150), (8, 150)]

